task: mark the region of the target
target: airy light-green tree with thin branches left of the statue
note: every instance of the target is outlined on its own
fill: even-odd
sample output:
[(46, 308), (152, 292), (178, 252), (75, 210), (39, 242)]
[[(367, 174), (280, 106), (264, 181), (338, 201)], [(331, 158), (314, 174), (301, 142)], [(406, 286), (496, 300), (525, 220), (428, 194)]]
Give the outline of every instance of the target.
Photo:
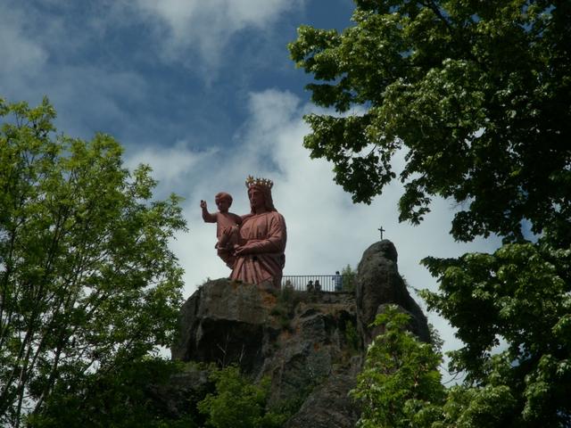
[(54, 136), (47, 100), (0, 116), (0, 424), (17, 427), (54, 389), (170, 345), (185, 221), (111, 136)]

